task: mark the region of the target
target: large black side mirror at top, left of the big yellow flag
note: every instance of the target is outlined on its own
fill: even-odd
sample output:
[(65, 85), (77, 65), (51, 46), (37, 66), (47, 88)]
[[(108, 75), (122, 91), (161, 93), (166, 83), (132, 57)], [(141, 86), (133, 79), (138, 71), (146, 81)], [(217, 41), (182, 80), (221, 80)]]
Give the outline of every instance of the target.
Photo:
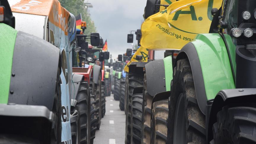
[[(147, 4), (145, 7), (145, 12), (144, 12), (144, 19), (147, 19), (149, 16), (156, 14), (160, 10), (160, 0), (147, 0)], [(158, 6), (156, 6), (156, 4)]]

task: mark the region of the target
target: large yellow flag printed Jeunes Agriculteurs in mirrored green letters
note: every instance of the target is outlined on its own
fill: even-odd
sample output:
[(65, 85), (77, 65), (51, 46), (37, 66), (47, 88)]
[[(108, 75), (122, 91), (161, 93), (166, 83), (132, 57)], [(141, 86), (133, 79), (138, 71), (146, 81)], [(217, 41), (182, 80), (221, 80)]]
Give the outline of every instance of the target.
[(209, 33), (212, 8), (222, 0), (180, 0), (148, 17), (141, 26), (140, 44), (148, 49), (180, 50), (198, 33)]

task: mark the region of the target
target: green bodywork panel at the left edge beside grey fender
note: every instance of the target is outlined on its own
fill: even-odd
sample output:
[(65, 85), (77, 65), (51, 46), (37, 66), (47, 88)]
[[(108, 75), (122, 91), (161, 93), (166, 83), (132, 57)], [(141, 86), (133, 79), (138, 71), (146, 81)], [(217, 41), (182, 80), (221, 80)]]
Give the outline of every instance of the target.
[(17, 31), (4, 23), (0, 23), (0, 31), (0, 103), (7, 104)]

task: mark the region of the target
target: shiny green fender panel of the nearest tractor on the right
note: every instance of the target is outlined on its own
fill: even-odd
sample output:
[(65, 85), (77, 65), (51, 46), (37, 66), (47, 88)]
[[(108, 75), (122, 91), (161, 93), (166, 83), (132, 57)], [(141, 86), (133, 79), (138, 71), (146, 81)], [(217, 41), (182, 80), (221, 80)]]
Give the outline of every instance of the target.
[[(231, 45), (230, 36), (225, 35), (225, 37), (230, 46), (231, 60), (235, 68), (235, 47)], [(198, 34), (192, 43), (199, 56), (207, 99), (214, 99), (222, 89), (234, 89), (235, 82), (228, 52), (220, 34)]]

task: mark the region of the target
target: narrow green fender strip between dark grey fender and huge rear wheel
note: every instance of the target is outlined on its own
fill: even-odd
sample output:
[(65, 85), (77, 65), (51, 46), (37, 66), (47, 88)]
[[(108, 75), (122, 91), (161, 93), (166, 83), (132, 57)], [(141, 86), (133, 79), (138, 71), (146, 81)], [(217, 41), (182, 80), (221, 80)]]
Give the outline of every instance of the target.
[(171, 90), (171, 81), (172, 81), (172, 56), (164, 58), (164, 73), (165, 73), (165, 85), (166, 91)]

